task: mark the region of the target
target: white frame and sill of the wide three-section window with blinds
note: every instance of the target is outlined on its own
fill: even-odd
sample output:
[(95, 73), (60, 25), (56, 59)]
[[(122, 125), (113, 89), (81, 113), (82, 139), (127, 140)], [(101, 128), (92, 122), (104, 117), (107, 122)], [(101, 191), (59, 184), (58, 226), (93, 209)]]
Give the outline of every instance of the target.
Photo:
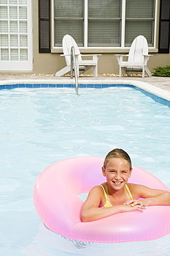
[[(84, 16), (84, 46), (79, 46), (81, 53), (128, 53), (130, 46), (125, 46), (125, 5), (126, 0), (122, 0), (121, 6), (121, 26), (120, 26), (120, 46), (87, 46), (87, 36), (88, 36), (88, 0), (85, 1), (85, 16)], [(153, 46), (149, 47), (149, 51), (152, 53), (158, 52), (158, 8), (159, 0), (155, 0), (155, 10), (154, 10), (154, 28), (153, 28)], [(54, 0), (52, 0), (52, 21), (51, 21), (51, 27), (52, 27), (52, 33), (51, 33), (51, 39), (52, 39), (52, 53), (63, 53), (62, 46), (54, 46)]]

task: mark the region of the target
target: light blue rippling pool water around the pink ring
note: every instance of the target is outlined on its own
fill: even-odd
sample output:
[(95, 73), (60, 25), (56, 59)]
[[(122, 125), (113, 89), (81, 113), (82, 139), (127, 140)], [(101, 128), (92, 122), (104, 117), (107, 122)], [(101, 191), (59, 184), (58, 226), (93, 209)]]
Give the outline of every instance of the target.
[(0, 91), (0, 255), (170, 255), (170, 235), (93, 244), (61, 237), (39, 219), (34, 183), (45, 167), (64, 158), (104, 157), (123, 148), (134, 165), (170, 188), (170, 108), (127, 87), (79, 93), (67, 88)]

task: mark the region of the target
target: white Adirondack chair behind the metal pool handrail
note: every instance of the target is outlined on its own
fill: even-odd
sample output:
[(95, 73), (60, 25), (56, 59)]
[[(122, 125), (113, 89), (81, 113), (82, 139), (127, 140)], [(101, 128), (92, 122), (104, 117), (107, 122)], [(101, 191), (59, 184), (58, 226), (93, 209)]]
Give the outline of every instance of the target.
[[(62, 68), (60, 71), (56, 72), (56, 76), (64, 75), (71, 70), (71, 48), (74, 46), (74, 53), (76, 59), (76, 66), (77, 66), (77, 76), (79, 74), (84, 73), (89, 68), (93, 68), (93, 75), (94, 77), (98, 76), (98, 57), (99, 55), (81, 55), (79, 48), (75, 42), (75, 40), (70, 35), (65, 35), (63, 37), (63, 55), (65, 57), (65, 62), (67, 66)], [(92, 56), (93, 60), (82, 60), (81, 56)]]

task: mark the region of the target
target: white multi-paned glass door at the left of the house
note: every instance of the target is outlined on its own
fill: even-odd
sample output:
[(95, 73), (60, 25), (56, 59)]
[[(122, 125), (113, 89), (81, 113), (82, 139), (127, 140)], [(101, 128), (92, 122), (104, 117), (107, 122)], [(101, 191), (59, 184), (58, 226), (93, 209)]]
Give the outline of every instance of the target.
[(32, 70), (31, 8), (27, 1), (0, 0), (1, 71)]

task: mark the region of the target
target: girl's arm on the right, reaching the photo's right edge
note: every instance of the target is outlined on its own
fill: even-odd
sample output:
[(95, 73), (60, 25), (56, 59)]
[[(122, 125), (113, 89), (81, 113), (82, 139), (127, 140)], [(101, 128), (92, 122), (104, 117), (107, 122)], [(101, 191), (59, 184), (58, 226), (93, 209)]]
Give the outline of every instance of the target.
[(140, 205), (141, 207), (149, 205), (170, 205), (170, 192), (168, 191), (153, 190), (143, 185), (135, 184), (133, 184), (133, 191), (136, 191), (136, 194), (138, 194), (137, 197), (142, 197), (143, 199), (129, 200), (126, 203), (127, 205)]

